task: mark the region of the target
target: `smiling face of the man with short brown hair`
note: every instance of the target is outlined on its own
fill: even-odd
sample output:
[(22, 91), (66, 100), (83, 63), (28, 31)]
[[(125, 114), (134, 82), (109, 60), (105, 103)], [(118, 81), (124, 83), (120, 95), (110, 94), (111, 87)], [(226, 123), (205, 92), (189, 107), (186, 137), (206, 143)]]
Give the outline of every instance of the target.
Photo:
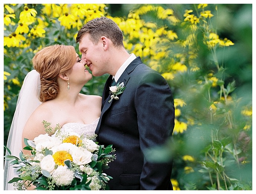
[(101, 76), (107, 73), (105, 67), (106, 56), (101, 42), (95, 45), (90, 40), (90, 35), (85, 34), (79, 41), (79, 51), (82, 54), (82, 60), (87, 62), (93, 76)]

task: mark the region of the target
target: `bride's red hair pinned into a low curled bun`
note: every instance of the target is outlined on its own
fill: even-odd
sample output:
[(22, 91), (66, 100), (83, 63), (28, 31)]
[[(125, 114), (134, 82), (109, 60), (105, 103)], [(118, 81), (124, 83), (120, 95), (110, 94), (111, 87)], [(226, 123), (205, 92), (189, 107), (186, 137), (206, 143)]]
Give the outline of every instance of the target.
[(41, 80), (40, 101), (56, 98), (59, 93), (57, 78), (70, 70), (76, 62), (73, 46), (52, 45), (42, 48), (32, 59)]

